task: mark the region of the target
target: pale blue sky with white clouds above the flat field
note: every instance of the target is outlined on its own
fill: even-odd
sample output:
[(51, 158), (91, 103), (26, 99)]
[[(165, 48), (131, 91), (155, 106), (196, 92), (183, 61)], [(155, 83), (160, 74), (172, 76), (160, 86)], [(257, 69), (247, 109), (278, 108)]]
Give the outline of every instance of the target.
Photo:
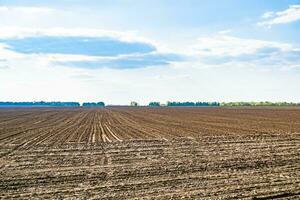
[(300, 102), (300, 0), (0, 0), (0, 101)]

